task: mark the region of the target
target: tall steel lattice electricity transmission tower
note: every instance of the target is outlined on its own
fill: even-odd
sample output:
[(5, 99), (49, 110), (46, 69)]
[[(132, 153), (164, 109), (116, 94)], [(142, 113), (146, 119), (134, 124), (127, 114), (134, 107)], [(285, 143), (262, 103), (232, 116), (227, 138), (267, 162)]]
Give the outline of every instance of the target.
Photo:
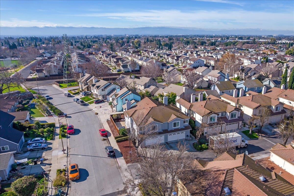
[(68, 79), (71, 78), (71, 72), (69, 69), (72, 69), (71, 66), (71, 53), (69, 52), (69, 43), (66, 34), (62, 36), (64, 41), (64, 54), (63, 54), (63, 83), (68, 84)]

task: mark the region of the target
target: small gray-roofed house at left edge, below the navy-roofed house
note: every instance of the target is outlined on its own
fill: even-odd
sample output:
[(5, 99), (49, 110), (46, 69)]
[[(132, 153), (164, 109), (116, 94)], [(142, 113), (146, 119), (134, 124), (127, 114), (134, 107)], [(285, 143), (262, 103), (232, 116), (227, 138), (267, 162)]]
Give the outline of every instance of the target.
[(0, 153), (0, 181), (8, 180), (11, 165), (15, 163), (13, 153), (15, 153), (15, 151)]

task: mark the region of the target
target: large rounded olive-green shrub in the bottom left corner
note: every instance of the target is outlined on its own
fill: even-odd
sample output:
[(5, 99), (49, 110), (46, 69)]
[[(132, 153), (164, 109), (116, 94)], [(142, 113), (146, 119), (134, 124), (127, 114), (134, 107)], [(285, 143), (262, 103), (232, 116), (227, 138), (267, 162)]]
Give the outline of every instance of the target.
[(34, 176), (24, 176), (11, 183), (11, 188), (19, 196), (32, 195), (37, 184)]

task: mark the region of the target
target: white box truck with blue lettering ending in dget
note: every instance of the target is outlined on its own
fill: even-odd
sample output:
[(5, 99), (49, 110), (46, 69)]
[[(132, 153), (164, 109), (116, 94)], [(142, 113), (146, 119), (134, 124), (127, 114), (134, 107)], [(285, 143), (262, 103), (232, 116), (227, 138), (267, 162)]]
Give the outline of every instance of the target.
[(209, 147), (214, 148), (222, 148), (222, 145), (228, 142), (230, 146), (237, 146), (246, 148), (248, 146), (248, 141), (242, 138), (242, 135), (233, 132), (233, 133), (224, 133), (219, 135), (211, 135), (209, 137)]

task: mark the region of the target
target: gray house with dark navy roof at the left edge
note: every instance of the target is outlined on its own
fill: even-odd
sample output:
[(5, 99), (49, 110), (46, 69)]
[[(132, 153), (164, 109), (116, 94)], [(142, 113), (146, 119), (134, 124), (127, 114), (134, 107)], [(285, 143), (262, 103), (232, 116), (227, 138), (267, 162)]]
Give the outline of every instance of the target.
[(24, 133), (12, 128), (15, 116), (0, 110), (0, 153), (20, 153), (24, 144)]

